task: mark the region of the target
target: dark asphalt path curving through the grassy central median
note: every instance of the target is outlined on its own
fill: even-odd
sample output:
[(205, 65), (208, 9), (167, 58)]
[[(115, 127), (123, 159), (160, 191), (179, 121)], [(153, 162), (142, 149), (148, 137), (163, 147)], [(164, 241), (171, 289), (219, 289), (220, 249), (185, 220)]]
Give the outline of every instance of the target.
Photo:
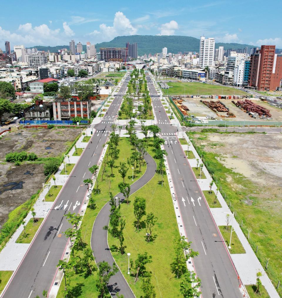
[[(152, 156), (147, 153), (144, 156), (144, 159), (147, 163), (147, 169), (143, 176), (141, 176), (137, 181), (130, 185), (130, 195), (135, 191), (144, 186), (149, 182), (156, 172), (156, 163)], [(125, 199), (122, 193), (115, 195), (119, 199)], [(91, 248), (95, 257), (95, 261), (98, 264), (99, 262), (105, 261), (108, 262), (111, 266), (115, 263), (115, 260), (110, 252), (110, 248), (107, 242), (107, 230), (103, 230), (104, 226), (108, 226), (110, 218), (110, 203), (104, 205), (104, 207), (98, 213), (91, 234)], [(114, 276), (112, 276), (108, 283), (108, 289), (112, 296), (115, 296), (117, 292), (124, 295), (126, 298), (135, 297), (130, 286), (119, 270)]]

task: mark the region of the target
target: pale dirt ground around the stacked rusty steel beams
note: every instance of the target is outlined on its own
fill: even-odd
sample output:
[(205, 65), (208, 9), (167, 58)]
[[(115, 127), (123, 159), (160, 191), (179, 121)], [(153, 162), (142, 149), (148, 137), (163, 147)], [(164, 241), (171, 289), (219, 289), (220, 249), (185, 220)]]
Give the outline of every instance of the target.
[[(183, 105), (186, 105), (189, 108), (189, 110), (190, 110), (189, 113), (190, 114), (193, 114), (194, 116), (205, 117), (205, 116), (209, 115), (210, 117), (215, 117), (216, 119), (224, 119), (225, 120), (225, 118), (218, 117), (216, 115), (216, 113), (214, 113), (206, 105), (204, 105), (203, 103), (200, 103), (200, 100), (210, 101), (210, 99), (185, 98), (185, 101), (183, 101)], [(213, 101), (216, 101), (216, 100), (213, 99)], [(261, 100), (252, 99), (252, 101), (254, 103), (256, 103), (258, 105), (261, 105), (261, 106), (269, 109), (270, 110), (270, 114), (272, 114), (272, 119), (273, 120), (263, 120), (263, 119), (252, 118), (248, 114), (246, 114), (244, 111), (242, 111), (239, 108), (237, 108), (236, 105), (234, 105), (232, 103), (232, 100), (221, 99), (220, 101), (222, 103), (224, 103), (227, 108), (229, 108), (230, 112), (232, 112), (233, 114), (236, 115), (235, 118), (230, 118), (230, 120), (234, 120), (234, 121), (244, 121), (244, 120), (246, 120), (246, 121), (260, 121), (260, 122), (268, 122), (268, 121), (278, 121), (278, 122), (281, 122), (282, 121), (282, 109), (276, 108), (276, 107), (272, 107), (268, 103), (263, 102)], [(220, 112), (218, 114), (226, 115), (226, 113), (223, 113), (223, 112)], [(227, 120), (228, 120), (228, 118), (227, 118)]]

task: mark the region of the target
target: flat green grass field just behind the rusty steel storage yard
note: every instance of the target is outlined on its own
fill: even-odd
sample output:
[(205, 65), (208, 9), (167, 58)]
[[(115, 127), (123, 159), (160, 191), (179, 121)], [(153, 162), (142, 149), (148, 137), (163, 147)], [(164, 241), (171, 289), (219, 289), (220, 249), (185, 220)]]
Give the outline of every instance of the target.
[[(168, 89), (168, 94), (200, 94), (200, 95), (247, 95), (248, 93), (231, 88), (231, 87), (222, 87), (218, 85), (210, 85), (204, 83), (180, 83), (180, 82), (166, 82), (171, 88)], [(167, 90), (163, 91), (166, 94)], [(235, 92), (235, 93), (234, 93)]]

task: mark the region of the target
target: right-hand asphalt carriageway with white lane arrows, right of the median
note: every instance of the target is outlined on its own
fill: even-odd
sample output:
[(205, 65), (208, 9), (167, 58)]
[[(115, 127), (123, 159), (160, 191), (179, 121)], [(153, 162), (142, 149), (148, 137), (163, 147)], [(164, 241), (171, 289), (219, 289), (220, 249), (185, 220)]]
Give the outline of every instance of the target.
[[(146, 78), (148, 87), (155, 93), (151, 78), (148, 75)], [(237, 271), (178, 142), (177, 134), (172, 134), (175, 133), (175, 127), (170, 125), (159, 97), (152, 98), (152, 103), (157, 125), (161, 128), (160, 136), (167, 142), (164, 148), (168, 153), (167, 160), (186, 237), (188, 241), (192, 241), (192, 249), (199, 252), (193, 263), (196, 274), (202, 281), (202, 297), (242, 297)]]

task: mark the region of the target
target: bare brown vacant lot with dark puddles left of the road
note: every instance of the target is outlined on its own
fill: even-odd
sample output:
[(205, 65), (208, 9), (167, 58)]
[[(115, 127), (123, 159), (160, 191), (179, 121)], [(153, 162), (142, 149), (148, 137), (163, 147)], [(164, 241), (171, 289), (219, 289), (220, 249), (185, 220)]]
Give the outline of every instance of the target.
[(36, 193), (45, 179), (43, 164), (15, 166), (5, 162), (5, 155), (25, 150), (38, 157), (55, 157), (65, 152), (80, 133), (77, 128), (32, 128), (7, 134), (0, 140), (0, 228), (9, 212)]

